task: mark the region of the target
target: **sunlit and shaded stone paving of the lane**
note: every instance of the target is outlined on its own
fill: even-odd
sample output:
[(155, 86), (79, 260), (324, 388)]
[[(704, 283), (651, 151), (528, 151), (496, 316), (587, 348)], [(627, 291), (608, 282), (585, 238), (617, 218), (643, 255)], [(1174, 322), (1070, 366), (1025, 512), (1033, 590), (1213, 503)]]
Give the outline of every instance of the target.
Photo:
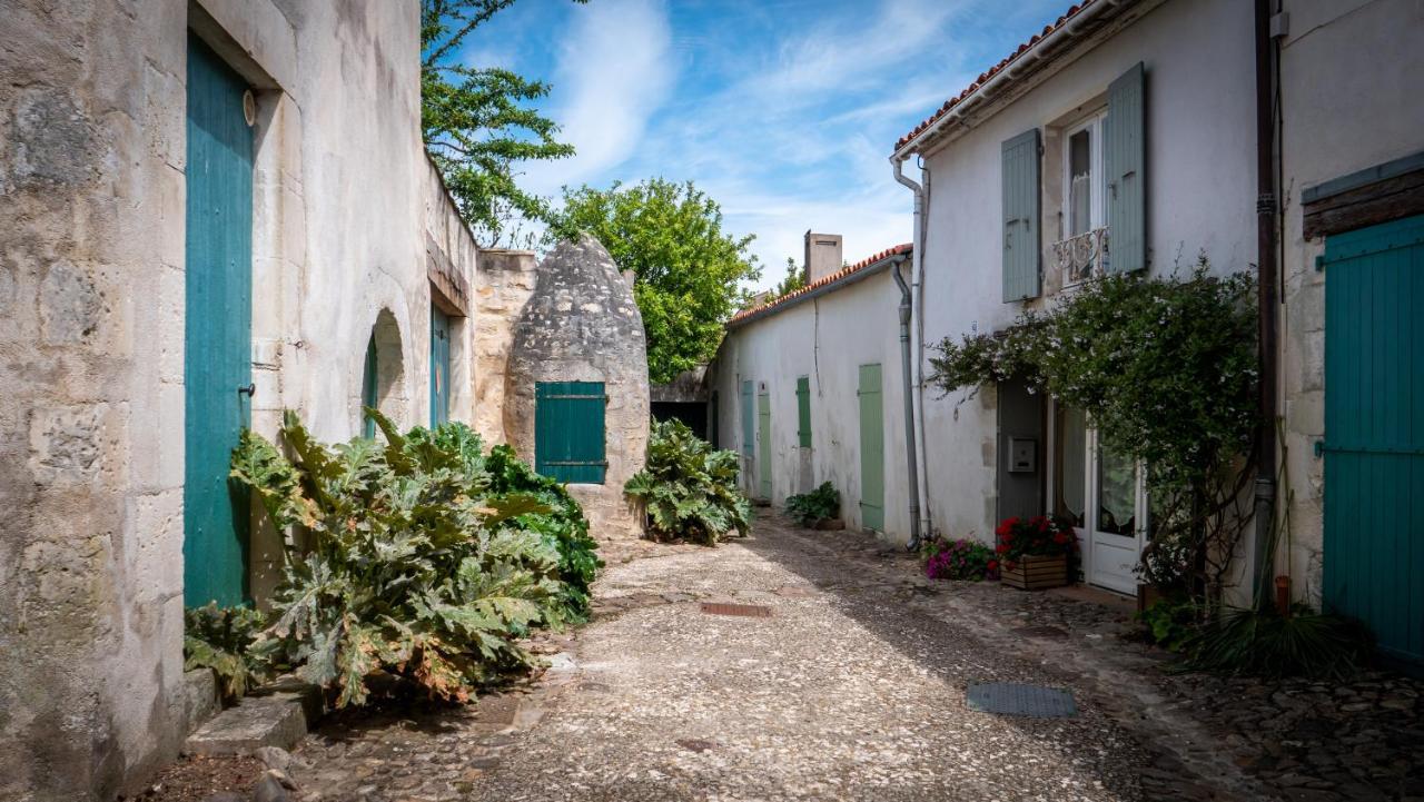
[[(1122, 638), (1121, 605), (931, 583), (870, 537), (766, 511), (715, 550), (607, 557), (594, 621), (535, 644), (541, 678), (478, 707), (329, 719), (295, 755), (299, 796), (1424, 799), (1418, 682), (1168, 675)], [(973, 712), (974, 681), (1068, 688), (1079, 715)]]

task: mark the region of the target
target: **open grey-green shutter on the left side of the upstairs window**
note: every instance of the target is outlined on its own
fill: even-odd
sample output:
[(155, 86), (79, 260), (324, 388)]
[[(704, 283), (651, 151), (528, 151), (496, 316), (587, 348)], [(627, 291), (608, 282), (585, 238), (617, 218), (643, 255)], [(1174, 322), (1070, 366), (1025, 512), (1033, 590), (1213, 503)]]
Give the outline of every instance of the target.
[(1038, 298), (1038, 128), (1004, 142), (1004, 303)]

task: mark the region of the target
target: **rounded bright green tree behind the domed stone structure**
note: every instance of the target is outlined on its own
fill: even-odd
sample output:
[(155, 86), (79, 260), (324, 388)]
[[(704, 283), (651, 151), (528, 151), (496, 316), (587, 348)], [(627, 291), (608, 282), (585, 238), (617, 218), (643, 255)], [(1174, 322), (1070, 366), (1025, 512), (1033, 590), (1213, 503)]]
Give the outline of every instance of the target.
[(565, 187), (564, 211), (545, 238), (584, 231), (634, 272), (654, 382), (671, 382), (716, 353), (722, 325), (748, 298), (742, 282), (762, 272), (748, 251), (753, 236), (725, 232), (722, 208), (691, 181)]

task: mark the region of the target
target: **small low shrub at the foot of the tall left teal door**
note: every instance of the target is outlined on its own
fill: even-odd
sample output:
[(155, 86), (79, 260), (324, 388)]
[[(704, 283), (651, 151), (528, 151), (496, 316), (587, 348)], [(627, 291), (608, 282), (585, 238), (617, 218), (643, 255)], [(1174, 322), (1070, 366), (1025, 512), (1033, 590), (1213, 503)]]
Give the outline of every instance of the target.
[(266, 655), (256, 645), (266, 625), (261, 611), (212, 603), (184, 610), (182, 620), (182, 670), (211, 668), (225, 701), (268, 678)]

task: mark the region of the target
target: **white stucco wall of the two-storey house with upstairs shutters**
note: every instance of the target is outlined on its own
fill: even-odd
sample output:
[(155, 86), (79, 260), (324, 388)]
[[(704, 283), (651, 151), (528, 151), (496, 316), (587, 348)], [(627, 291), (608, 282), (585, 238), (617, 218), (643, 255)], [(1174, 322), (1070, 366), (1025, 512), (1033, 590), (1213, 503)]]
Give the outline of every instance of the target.
[[(993, 115), (926, 158), (924, 339), (993, 332), (1025, 303), (1004, 303), (1001, 285), (1001, 144), (1034, 127), (1045, 151), (1061, 148), (1054, 124), (1104, 105), (1108, 84), (1138, 61), (1146, 70), (1146, 209), (1151, 271), (1192, 266), (1205, 252), (1216, 272), (1255, 259), (1255, 95), (1252, 7), (1239, 0), (1172, 0), (1099, 41)], [(954, 94), (957, 87), (946, 87)], [(1061, 184), (1057, 150), (1045, 152), (1045, 187)], [(1057, 197), (1057, 191), (1052, 192)], [(1052, 198), (1045, 198), (1051, 201)], [(1044, 289), (1057, 278), (1048, 245), (1057, 209), (1045, 202)], [(1040, 306), (1045, 299), (1028, 302)], [(933, 352), (928, 352), (933, 353)], [(926, 366), (928, 372), (928, 366)], [(995, 516), (995, 399), (963, 400), (924, 390), (928, 506), (937, 530), (991, 540)], [(961, 403), (963, 402), (963, 403)], [(1040, 452), (1047, 457), (1047, 449)]]

